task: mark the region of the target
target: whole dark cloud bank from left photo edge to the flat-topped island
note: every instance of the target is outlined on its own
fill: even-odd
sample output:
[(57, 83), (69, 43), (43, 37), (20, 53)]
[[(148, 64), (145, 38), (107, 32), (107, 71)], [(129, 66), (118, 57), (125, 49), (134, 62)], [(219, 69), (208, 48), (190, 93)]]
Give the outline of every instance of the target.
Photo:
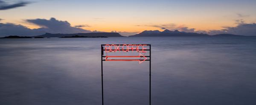
[[(67, 21), (59, 21), (55, 18), (27, 19), (26, 22), (41, 26), (42, 28), (30, 29), (23, 25), (12, 23), (0, 23), (0, 36), (35, 36), (44, 33), (90, 33), (90, 30), (72, 27)], [(99, 32), (99, 31), (93, 31)]]

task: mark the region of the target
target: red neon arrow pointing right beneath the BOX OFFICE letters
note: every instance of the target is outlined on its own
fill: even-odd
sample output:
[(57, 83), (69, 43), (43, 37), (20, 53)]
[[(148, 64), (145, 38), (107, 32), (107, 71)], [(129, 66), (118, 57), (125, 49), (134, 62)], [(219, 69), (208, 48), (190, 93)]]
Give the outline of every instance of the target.
[[(108, 60), (108, 58), (141, 58), (143, 57), (144, 59), (111, 59)], [(143, 61), (147, 60), (147, 57), (144, 55), (140, 54), (139, 56), (106, 56), (105, 58), (106, 61), (139, 61), (141, 64)]]

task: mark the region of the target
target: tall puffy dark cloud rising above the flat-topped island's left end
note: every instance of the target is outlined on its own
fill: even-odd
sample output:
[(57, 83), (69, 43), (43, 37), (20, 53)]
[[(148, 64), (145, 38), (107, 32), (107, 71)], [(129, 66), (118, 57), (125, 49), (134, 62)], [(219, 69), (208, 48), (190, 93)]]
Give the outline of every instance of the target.
[(55, 18), (47, 19), (27, 19), (26, 22), (41, 26), (48, 33), (89, 33), (90, 30), (72, 27), (67, 21), (59, 21)]

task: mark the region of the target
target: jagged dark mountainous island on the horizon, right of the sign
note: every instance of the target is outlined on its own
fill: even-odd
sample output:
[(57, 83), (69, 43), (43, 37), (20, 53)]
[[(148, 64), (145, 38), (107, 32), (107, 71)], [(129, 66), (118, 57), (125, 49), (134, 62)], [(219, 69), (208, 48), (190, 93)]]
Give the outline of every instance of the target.
[(180, 32), (178, 30), (172, 31), (172, 30), (164, 30), (163, 32), (159, 30), (145, 30), (139, 34), (130, 36), (130, 37), (141, 37), (141, 36), (209, 36), (208, 34), (204, 33), (186, 33), (186, 32)]

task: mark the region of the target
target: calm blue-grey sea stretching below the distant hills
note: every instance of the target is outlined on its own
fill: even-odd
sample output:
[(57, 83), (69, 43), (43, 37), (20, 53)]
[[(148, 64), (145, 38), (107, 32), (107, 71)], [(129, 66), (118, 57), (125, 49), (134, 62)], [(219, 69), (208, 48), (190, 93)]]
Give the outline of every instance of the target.
[[(101, 105), (100, 44), (152, 44), (152, 105), (256, 105), (256, 37), (0, 39), (0, 105)], [(148, 105), (144, 62), (104, 62), (105, 105)]]

